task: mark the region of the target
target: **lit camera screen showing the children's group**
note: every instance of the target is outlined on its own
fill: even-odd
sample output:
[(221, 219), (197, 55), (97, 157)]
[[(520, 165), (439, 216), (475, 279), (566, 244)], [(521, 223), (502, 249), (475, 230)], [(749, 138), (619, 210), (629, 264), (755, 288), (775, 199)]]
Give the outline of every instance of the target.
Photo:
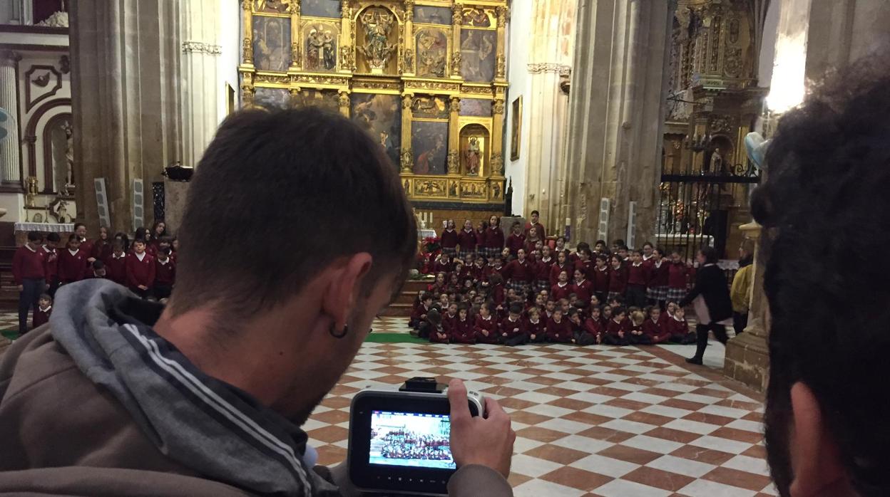
[(456, 469), (450, 435), (448, 414), (373, 411), (368, 463)]

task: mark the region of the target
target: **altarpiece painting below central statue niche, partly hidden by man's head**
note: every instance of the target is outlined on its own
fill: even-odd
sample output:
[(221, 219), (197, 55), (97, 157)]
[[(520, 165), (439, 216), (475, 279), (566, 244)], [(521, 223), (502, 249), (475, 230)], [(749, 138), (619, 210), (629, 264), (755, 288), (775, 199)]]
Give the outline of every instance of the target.
[[(386, 150), (392, 164), (399, 164), (401, 149), (401, 97), (352, 93), (352, 120)], [(448, 123), (446, 123), (447, 125)]]

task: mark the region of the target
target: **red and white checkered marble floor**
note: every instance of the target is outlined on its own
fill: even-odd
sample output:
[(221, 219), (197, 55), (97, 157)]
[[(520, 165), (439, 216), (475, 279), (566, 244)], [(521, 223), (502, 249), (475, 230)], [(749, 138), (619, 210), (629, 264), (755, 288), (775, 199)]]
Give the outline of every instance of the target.
[[(0, 314), (0, 329), (17, 318)], [(376, 333), (407, 333), (382, 318)], [(352, 395), (412, 376), (460, 378), (497, 398), (517, 438), (509, 481), (522, 496), (775, 495), (762, 396), (726, 380), (724, 349), (686, 365), (693, 346), (591, 347), (373, 343), (303, 426), (320, 463), (346, 455)]]

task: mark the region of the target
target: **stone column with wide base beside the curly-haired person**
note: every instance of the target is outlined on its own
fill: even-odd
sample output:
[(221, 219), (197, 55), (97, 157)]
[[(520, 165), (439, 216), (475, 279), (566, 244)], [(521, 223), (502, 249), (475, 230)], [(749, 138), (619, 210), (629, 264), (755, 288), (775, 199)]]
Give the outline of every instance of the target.
[(754, 282), (751, 285), (748, 327), (745, 333), (726, 343), (724, 374), (733, 380), (764, 391), (769, 381), (770, 353), (768, 346), (770, 310), (764, 293), (764, 268), (766, 263), (760, 250), (760, 225), (744, 224), (740, 229), (755, 241)]

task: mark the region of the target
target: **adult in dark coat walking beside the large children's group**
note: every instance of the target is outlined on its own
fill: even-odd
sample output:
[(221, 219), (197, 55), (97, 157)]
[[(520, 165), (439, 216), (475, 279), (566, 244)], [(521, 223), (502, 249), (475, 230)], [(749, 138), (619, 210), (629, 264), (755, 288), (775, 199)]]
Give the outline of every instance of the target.
[[(713, 247), (704, 247), (696, 255), (700, 267), (695, 275), (695, 286), (686, 294), (681, 307), (696, 302), (696, 313), (699, 324), (695, 327), (697, 345), (695, 356), (686, 359), (687, 363), (700, 365), (701, 359), (708, 348), (708, 332), (720, 343), (726, 344), (726, 326), (724, 322), (732, 319), (732, 301), (729, 297), (729, 284), (723, 269), (717, 266), (717, 252)], [(697, 299), (700, 301), (696, 301)], [(703, 304), (703, 305), (702, 305)]]

